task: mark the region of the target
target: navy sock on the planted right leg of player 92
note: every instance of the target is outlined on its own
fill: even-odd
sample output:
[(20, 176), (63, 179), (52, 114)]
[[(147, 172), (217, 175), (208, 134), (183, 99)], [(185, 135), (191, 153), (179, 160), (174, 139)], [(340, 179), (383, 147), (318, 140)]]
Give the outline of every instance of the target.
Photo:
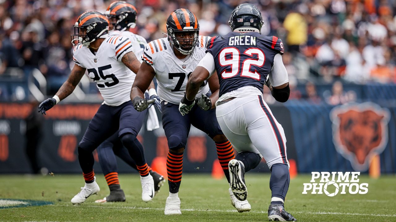
[[(270, 188), (271, 204), (283, 204), (289, 190), (290, 174), (287, 164), (274, 164), (271, 167)], [(281, 201), (281, 198), (283, 201)]]

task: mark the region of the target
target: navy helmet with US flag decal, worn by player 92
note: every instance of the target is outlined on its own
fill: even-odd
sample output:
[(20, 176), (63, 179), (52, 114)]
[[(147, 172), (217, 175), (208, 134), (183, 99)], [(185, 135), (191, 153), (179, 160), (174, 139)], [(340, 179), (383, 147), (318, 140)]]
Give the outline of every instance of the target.
[(259, 32), (263, 27), (260, 10), (249, 3), (236, 6), (228, 21), (233, 32)]

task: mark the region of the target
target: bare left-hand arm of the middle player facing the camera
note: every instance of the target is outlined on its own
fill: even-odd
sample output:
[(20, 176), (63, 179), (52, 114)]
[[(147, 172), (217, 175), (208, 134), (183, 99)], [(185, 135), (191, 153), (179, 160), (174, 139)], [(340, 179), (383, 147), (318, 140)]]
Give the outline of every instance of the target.
[(155, 71), (154, 69), (143, 62), (139, 71), (136, 73), (135, 81), (133, 82), (131, 89), (131, 100), (136, 96), (140, 96), (141, 98), (145, 98), (144, 92), (152, 86), (154, 88), (154, 83), (152, 80), (154, 79)]

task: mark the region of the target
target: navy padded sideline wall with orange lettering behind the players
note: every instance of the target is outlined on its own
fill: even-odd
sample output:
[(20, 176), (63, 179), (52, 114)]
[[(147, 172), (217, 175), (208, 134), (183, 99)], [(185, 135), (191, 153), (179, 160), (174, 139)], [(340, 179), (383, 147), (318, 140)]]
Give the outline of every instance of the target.
[[(367, 94), (374, 96), (379, 92), (374, 89), (369, 90)], [(378, 106), (377, 108), (387, 112), (388, 122), (385, 126), (387, 133), (385, 137), (381, 136), (380, 138), (381, 143), (386, 142), (382, 144), (384, 147), (378, 149), (378, 147), (372, 145), (371, 148), (367, 148), (364, 143), (361, 143), (361, 146), (355, 145), (355, 149), (364, 149), (367, 156), (373, 153), (379, 154), (381, 172), (396, 173), (396, 106), (389, 102), (379, 103), (379, 105), (374, 103), (369, 105)], [(354, 103), (352, 105), (359, 106), (362, 104), (365, 103)], [(30, 172), (25, 152), (24, 135), (24, 119), (29, 115), (30, 107), (28, 103), (0, 103), (0, 173)], [(77, 144), (98, 107), (97, 104), (61, 103), (48, 111), (44, 122), (44, 138), (38, 151), (42, 166), (47, 167), (53, 173), (81, 173), (77, 160)], [(298, 172), (367, 172), (369, 165), (367, 158), (366, 166), (359, 165), (360, 168), (356, 168), (356, 166), (353, 166), (353, 161), (347, 159), (345, 152), (342, 153), (336, 149), (335, 125), (331, 119), (331, 112), (338, 108), (345, 110), (345, 107), (347, 105), (332, 106), (326, 103), (312, 104), (293, 100), (284, 104), (270, 105), (273, 115), (285, 130), (287, 155), (289, 160), (293, 159), (297, 163)], [(367, 121), (360, 124), (367, 125)], [(370, 124), (375, 125), (377, 123)], [(376, 127), (366, 125), (362, 127), (371, 127), (369, 129), (377, 131), (380, 129), (378, 124)], [(377, 132), (375, 130), (372, 130), (373, 135), (378, 135), (375, 134)], [(343, 136), (345, 137), (345, 135)], [(378, 136), (373, 136), (373, 138), (378, 139)], [(162, 128), (152, 132), (143, 128), (139, 134), (139, 140), (143, 143), (149, 164), (157, 156), (166, 158), (168, 145)], [(359, 140), (354, 139), (354, 141)], [(373, 139), (368, 141), (373, 141)], [(95, 172), (101, 172), (96, 155)], [(361, 158), (364, 158), (364, 156), (361, 156)], [(214, 142), (206, 134), (192, 127), (183, 160), (183, 171), (186, 173), (208, 173), (211, 172), (214, 161), (217, 161)], [(118, 169), (120, 173), (135, 172), (120, 159), (118, 159)], [(269, 172), (269, 169), (265, 160), (263, 160), (252, 171)]]

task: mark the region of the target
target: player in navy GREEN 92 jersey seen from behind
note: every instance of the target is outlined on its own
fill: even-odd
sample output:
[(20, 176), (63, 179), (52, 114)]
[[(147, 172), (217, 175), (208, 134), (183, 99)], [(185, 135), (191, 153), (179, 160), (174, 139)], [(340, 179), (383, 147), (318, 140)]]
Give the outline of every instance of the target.
[(295, 221), (284, 209), (290, 182), (286, 137), (262, 98), (267, 77), (277, 101), (289, 98), (282, 40), (260, 34), (263, 19), (251, 4), (237, 6), (229, 24), (233, 32), (209, 41), (205, 57), (188, 79), (179, 111), (185, 115), (192, 109), (199, 86), (217, 71), (219, 98), (211, 97), (211, 102), (215, 102), (221, 130), (239, 152), (228, 163), (232, 192), (240, 200), (247, 198), (244, 174), (264, 157), (271, 170), (268, 219)]

